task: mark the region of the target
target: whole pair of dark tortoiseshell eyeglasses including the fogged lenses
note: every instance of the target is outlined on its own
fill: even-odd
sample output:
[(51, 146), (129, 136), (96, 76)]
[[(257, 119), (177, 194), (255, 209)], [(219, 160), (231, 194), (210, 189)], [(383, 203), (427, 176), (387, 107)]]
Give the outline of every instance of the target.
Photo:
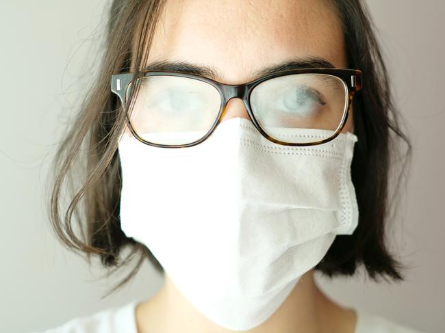
[[(270, 142), (313, 146), (342, 131), (353, 95), (361, 89), (361, 71), (302, 68), (231, 85), (183, 72), (147, 70), (112, 75), (111, 89), (120, 98), (131, 133), (151, 146), (200, 144), (221, 122), (233, 97), (242, 98), (256, 129)], [(305, 135), (298, 135), (301, 129)]]

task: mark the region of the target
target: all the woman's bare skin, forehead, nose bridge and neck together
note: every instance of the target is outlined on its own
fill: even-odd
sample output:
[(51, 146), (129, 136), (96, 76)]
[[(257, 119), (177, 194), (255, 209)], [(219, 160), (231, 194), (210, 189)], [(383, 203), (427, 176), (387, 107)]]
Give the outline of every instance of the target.
[[(338, 16), (324, 0), (168, 0), (153, 37), (149, 62), (186, 61), (215, 68), (220, 81), (251, 81), (253, 72), (279, 62), (322, 57), (348, 68)], [(246, 118), (233, 98), (223, 121)], [(353, 110), (342, 132), (353, 132)], [(164, 286), (136, 307), (139, 333), (228, 333), (201, 315), (164, 273)], [(353, 333), (355, 311), (322, 293), (307, 271), (285, 302), (251, 333)]]

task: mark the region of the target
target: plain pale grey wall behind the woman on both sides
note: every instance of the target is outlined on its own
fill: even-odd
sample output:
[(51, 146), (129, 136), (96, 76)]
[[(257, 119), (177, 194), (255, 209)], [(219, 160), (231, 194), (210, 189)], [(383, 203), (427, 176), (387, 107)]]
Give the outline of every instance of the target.
[[(49, 230), (45, 181), (60, 135), (94, 77), (104, 0), (1, 0), (0, 331), (60, 325), (131, 299), (162, 278), (144, 263), (125, 289), (100, 300), (117, 278), (98, 280)], [(340, 304), (424, 332), (445, 332), (445, 1), (368, 1), (414, 145), (411, 173), (389, 242), (412, 268), (401, 284), (364, 274), (320, 287)]]

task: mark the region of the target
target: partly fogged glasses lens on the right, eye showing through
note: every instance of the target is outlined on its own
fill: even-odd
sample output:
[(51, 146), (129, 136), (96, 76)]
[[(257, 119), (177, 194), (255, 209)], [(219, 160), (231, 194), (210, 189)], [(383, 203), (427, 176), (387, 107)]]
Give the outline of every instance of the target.
[(288, 143), (318, 142), (342, 124), (348, 88), (332, 75), (292, 74), (259, 83), (250, 102), (255, 119), (270, 137)]

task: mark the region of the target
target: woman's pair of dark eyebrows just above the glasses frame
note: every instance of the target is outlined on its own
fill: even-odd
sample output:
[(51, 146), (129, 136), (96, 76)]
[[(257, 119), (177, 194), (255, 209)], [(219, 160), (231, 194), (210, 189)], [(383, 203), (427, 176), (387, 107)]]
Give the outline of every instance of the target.
[[(261, 70), (253, 72), (250, 80), (253, 81), (259, 77), (282, 72), (283, 70), (292, 70), (299, 68), (335, 68), (331, 62), (321, 57), (304, 57), (296, 58), (278, 64), (272, 64)], [(171, 70), (175, 72), (183, 72), (185, 74), (200, 75), (214, 79), (216, 81), (223, 81), (223, 75), (221, 72), (212, 66), (205, 66), (200, 64), (194, 64), (192, 62), (170, 62), (166, 60), (151, 62), (144, 67), (144, 70)]]

